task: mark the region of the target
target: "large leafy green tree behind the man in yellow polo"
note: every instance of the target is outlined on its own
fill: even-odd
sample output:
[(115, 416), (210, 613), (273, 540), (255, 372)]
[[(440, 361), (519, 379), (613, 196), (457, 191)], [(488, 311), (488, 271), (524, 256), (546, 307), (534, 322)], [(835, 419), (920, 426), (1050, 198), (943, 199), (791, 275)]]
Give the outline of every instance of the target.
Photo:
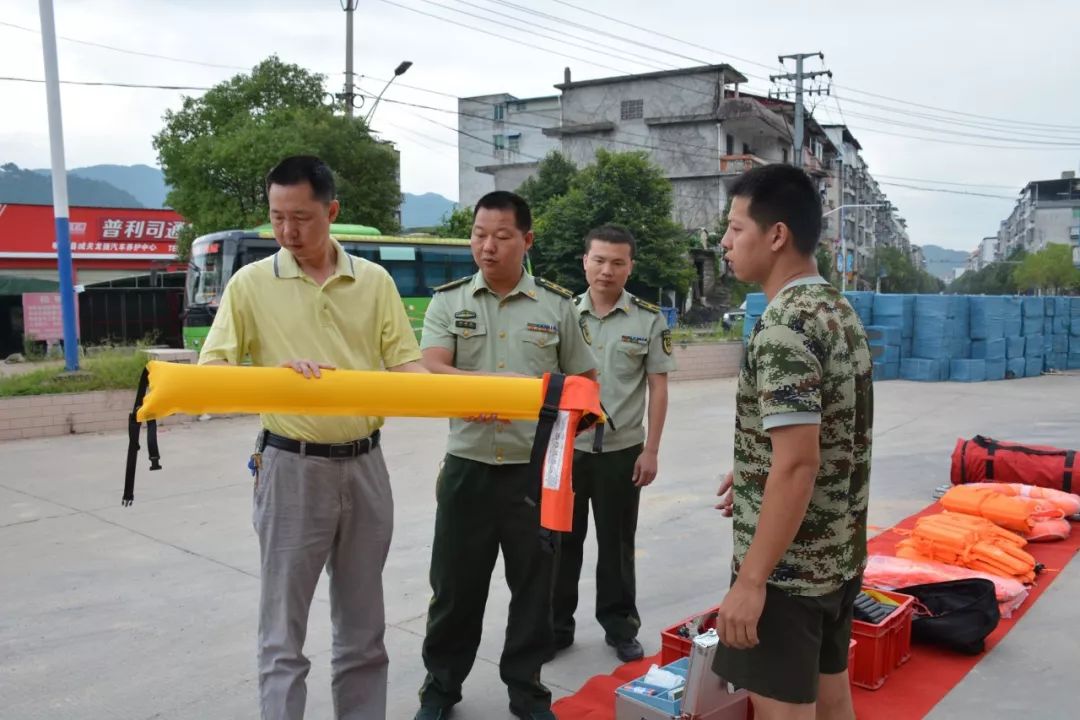
[(341, 222), (397, 231), (397, 153), (362, 121), (324, 106), (323, 81), (271, 56), (165, 112), (153, 147), (172, 187), (168, 204), (194, 235), (266, 222), (264, 178), (282, 158), (300, 153), (334, 169)]

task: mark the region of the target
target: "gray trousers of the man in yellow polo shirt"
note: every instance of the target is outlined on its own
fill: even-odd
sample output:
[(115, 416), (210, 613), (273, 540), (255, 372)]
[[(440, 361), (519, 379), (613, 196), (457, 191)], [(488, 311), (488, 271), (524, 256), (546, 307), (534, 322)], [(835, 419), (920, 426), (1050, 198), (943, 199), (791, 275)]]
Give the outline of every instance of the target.
[(384, 720), (382, 567), (393, 498), (382, 449), (328, 459), (268, 447), (254, 490), (259, 536), (259, 696), (264, 720), (298, 720), (311, 662), (308, 612), (323, 568), (334, 626), (335, 717)]

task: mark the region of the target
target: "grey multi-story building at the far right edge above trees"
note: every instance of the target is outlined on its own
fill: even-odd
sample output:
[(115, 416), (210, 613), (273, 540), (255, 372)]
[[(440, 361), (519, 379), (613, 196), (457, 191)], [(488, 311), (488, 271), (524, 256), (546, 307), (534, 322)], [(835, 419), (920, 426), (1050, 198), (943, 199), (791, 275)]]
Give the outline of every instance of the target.
[(995, 258), (1008, 259), (1018, 249), (1038, 253), (1051, 243), (1080, 243), (1080, 179), (1071, 171), (1056, 180), (1032, 180), (1020, 191), (998, 229)]

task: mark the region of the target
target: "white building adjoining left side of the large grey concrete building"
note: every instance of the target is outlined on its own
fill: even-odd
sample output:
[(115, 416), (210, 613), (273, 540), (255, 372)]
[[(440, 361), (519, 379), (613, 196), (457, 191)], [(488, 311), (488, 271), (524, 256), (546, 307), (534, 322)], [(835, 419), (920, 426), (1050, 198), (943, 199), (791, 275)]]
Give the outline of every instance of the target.
[(557, 138), (558, 95), (514, 97), (509, 93), (458, 100), (458, 203), (472, 207), (492, 190), (515, 190), (536, 172)]

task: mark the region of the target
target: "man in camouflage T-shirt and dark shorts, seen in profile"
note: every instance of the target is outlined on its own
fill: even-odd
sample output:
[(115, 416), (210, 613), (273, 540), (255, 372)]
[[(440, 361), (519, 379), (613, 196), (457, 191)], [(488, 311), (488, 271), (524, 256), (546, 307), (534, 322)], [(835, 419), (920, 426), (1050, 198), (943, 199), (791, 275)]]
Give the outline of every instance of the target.
[(852, 609), (866, 560), (874, 385), (866, 335), (818, 274), (821, 200), (787, 165), (731, 189), (724, 236), (735, 276), (769, 304), (735, 402), (732, 584), (713, 669), (751, 692), (756, 717), (853, 720)]

